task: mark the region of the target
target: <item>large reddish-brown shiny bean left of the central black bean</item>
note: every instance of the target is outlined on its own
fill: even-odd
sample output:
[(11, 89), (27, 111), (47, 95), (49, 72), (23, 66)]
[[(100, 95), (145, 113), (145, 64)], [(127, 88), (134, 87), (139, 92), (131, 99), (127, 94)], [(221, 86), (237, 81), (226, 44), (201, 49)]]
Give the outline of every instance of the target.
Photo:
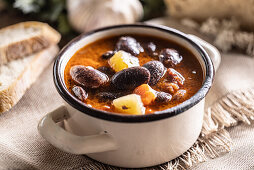
[(86, 88), (98, 88), (109, 81), (106, 74), (90, 66), (76, 65), (70, 69), (72, 79)]

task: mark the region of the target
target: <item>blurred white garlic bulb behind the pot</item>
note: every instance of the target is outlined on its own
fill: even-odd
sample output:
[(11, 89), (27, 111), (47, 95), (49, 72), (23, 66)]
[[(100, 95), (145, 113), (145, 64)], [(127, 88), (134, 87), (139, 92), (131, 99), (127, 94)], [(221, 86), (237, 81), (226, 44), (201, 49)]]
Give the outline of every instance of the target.
[(127, 24), (143, 16), (138, 0), (67, 0), (70, 24), (79, 32)]

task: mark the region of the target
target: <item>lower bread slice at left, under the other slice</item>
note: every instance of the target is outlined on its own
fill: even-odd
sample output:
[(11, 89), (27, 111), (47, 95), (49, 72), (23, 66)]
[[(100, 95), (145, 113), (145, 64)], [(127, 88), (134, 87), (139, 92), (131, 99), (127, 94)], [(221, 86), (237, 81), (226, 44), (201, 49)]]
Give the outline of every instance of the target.
[(58, 50), (54, 45), (37, 54), (0, 66), (0, 113), (9, 110), (21, 99)]

